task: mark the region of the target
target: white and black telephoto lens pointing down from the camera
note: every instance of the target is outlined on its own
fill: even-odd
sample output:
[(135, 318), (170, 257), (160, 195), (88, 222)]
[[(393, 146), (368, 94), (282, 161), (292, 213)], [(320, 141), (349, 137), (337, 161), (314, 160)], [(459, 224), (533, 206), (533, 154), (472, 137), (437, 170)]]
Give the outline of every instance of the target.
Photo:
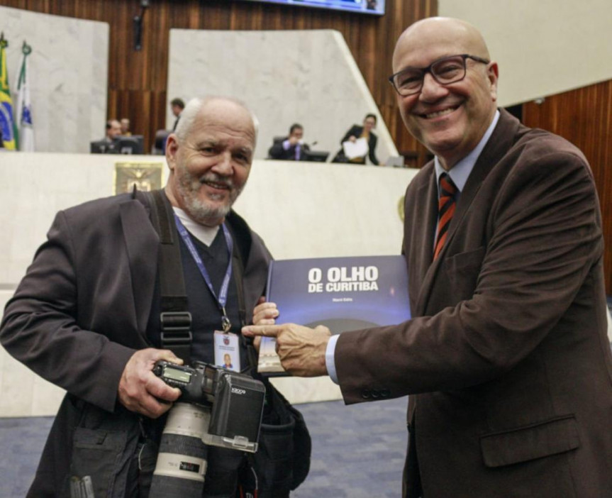
[(201, 498), (208, 453), (202, 438), (210, 419), (207, 406), (172, 406), (160, 441), (150, 498)]

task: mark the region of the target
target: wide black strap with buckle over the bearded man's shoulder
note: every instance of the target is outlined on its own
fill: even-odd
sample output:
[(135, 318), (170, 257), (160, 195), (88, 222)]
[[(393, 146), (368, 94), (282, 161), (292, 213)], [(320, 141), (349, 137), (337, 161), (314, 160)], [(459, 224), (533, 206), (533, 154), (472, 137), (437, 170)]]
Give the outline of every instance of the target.
[(174, 225), (174, 210), (163, 190), (143, 192), (151, 209), (151, 221), (160, 236), (160, 323), (162, 348), (169, 349), (189, 365), (191, 354), (191, 314), (179, 235)]

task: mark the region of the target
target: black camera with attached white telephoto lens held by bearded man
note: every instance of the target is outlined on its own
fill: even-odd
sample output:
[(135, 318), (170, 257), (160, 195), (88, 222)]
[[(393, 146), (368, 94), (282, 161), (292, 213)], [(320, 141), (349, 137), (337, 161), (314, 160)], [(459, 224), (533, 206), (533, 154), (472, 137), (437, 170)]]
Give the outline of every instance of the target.
[(182, 395), (162, 433), (150, 498), (201, 497), (208, 446), (257, 451), (264, 384), (202, 362), (158, 361), (153, 373)]

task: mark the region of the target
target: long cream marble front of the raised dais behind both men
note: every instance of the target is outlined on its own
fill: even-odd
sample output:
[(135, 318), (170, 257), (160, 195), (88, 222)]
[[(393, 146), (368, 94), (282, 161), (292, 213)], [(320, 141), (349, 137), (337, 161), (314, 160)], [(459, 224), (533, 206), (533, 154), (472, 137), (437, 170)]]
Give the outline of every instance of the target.
[[(163, 157), (0, 153), (0, 309), (56, 211), (113, 193), (116, 161)], [(235, 209), (277, 259), (400, 253), (399, 203), (416, 170), (256, 160)], [(340, 399), (328, 377), (277, 379), (293, 402)], [(0, 347), (0, 416), (55, 414), (62, 390)]]

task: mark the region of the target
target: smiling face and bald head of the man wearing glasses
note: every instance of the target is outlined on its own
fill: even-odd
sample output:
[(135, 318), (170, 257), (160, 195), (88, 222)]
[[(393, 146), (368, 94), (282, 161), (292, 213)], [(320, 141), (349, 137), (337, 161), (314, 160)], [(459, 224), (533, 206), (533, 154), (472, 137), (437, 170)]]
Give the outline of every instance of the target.
[[(449, 18), (428, 18), (413, 24), (398, 40), (393, 72), (406, 67), (427, 67), (440, 57), (469, 54), (489, 60), (482, 36), (467, 23)], [(496, 111), (497, 64), (466, 61), (460, 82), (446, 86), (425, 74), (418, 94), (398, 95), (408, 131), (438, 156), (450, 170), (468, 155), (489, 128)]]

